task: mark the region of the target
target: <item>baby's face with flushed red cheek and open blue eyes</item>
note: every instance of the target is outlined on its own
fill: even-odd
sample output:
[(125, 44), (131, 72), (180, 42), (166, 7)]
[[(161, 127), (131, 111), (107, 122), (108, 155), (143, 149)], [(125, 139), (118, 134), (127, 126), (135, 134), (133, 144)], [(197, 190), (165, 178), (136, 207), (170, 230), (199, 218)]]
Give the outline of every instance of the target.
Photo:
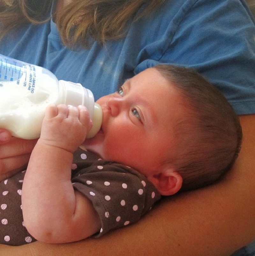
[(176, 88), (149, 68), (97, 101), (103, 109), (102, 128), (84, 146), (146, 177), (156, 175), (174, 145), (173, 127), (182, 115), (181, 101)]

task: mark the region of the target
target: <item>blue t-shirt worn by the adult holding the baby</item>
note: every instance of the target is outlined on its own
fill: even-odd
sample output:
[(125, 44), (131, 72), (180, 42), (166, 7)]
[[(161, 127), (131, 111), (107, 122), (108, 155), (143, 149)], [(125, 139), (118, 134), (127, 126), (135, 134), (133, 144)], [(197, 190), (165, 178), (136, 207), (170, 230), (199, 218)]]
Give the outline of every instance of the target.
[(237, 114), (255, 113), (255, 25), (243, 0), (167, 0), (130, 23), (120, 40), (71, 50), (52, 20), (25, 25), (0, 42), (0, 53), (81, 83), (95, 99), (158, 64), (195, 68), (217, 86)]

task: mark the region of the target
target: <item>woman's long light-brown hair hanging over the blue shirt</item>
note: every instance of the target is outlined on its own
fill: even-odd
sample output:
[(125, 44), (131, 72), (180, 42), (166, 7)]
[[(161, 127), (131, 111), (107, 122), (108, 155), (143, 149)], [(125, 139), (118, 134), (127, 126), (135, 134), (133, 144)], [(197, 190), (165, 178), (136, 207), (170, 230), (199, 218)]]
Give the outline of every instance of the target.
[[(61, 1), (61, 0), (60, 0)], [(24, 23), (45, 22), (52, 0), (0, 0), (1, 37)], [(165, 0), (73, 0), (55, 18), (65, 45), (85, 48), (123, 37), (128, 23), (164, 4)]]

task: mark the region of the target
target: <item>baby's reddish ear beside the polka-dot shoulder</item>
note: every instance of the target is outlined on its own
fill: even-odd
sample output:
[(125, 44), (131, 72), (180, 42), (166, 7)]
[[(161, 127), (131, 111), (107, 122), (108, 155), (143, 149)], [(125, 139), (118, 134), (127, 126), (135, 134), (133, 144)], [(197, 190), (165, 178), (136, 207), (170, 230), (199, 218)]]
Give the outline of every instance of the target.
[(172, 169), (155, 174), (152, 177), (148, 177), (148, 179), (163, 196), (170, 196), (177, 193), (182, 186), (181, 175)]

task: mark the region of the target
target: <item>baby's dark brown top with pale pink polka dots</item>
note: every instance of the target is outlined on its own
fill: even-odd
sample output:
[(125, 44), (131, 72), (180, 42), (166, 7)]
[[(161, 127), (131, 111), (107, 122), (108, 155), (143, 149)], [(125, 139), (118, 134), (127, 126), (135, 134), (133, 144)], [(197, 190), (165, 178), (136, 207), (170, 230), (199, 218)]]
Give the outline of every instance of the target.
[[(23, 224), (21, 193), (25, 171), (0, 183), (0, 243), (23, 245), (36, 241)], [(136, 170), (78, 149), (71, 180), (101, 219), (99, 237), (138, 221), (160, 199), (157, 189)]]

